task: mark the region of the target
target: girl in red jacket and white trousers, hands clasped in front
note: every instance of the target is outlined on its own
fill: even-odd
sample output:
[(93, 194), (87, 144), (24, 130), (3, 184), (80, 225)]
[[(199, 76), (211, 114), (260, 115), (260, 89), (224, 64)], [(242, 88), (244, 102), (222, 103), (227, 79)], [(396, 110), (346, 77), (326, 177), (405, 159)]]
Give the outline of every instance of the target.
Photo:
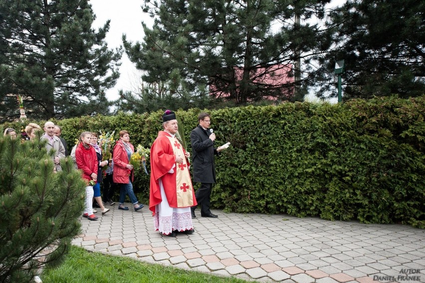
[(93, 185), (89, 185), (90, 181), (96, 183), (97, 180), (97, 156), (94, 148), (90, 146), (90, 138), (90, 132), (81, 133), (75, 149), (75, 160), (78, 169), (82, 171), (83, 179), (87, 182), (86, 207), (83, 216), (89, 220), (97, 220), (98, 217), (93, 214)]

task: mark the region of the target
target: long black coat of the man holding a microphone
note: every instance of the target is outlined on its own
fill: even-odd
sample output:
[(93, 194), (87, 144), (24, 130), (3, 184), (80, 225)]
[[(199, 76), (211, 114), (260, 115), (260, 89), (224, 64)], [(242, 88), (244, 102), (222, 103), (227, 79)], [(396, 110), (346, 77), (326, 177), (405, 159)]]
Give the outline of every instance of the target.
[(214, 154), (218, 154), (218, 152), (209, 138), (210, 134), (200, 125), (191, 132), (194, 182), (215, 183)]

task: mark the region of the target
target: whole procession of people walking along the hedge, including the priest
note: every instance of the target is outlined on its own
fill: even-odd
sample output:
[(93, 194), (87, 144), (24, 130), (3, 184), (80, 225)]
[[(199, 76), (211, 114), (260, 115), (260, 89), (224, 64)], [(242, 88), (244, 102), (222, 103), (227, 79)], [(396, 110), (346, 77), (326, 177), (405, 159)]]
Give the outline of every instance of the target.
[[(192, 234), (195, 232), (192, 219), (196, 218), (195, 209), (201, 206), (201, 216), (217, 218), (210, 211), (212, 187), (215, 183), (214, 155), (219, 150), (214, 147), (215, 134), (209, 131), (211, 117), (202, 112), (199, 125), (191, 132), (193, 149), (194, 181), (201, 183), (201, 188), (195, 194), (190, 175), (189, 158), (191, 154), (183, 148), (176, 138), (178, 121), (173, 111), (167, 110), (162, 116), (163, 131), (158, 133), (151, 147), (151, 182), (149, 209), (153, 214), (155, 231), (168, 237), (176, 237), (179, 233)], [(22, 139), (34, 140), (41, 127), (29, 123), (22, 132)], [(54, 172), (61, 171), (60, 161), (68, 156), (66, 141), (60, 137), (62, 129), (51, 121), (43, 127), (44, 133), (40, 140), (45, 140), (47, 151), (54, 150)], [(4, 130), (4, 136), (17, 137), (17, 132), (12, 128)], [(86, 181), (85, 208), (83, 217), (96, 221), (95, 215), (100, 209), (102, 215), (110, 211), (106, 206), (112, 206), (115, 188), (120, 188), (119, 210), (129, 210), (124, 205), (128, 195), (134, 211), (143, 208), (134, 191), (134, 168), (130, 164), (131, 156), (135, 153), (134, 146), (130, 143), (130, 134), (122, 130), (119, 140), (115, 143), (112, 158), (103, 160), (102, 150), (98, 144), (97, 133), (84, 131), (80, 134), (77, 144), (72, 148), (70, 157), (74, 160), (75, 167), (81, 171), (82, 178)], [(105, 169), (105, 174), (102, 170)], [(103, 202), (101, 196), (101, 183), (103, 183)]]

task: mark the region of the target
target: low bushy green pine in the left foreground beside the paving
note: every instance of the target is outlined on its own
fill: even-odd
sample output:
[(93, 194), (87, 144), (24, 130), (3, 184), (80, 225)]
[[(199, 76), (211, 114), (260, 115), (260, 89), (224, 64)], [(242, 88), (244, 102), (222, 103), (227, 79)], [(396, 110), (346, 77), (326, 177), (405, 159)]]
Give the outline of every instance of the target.
[(43, 142), (0, 137), (0, 282), (58, 265), (80, 233), (85, 182), (72, 160), (53, 173)]

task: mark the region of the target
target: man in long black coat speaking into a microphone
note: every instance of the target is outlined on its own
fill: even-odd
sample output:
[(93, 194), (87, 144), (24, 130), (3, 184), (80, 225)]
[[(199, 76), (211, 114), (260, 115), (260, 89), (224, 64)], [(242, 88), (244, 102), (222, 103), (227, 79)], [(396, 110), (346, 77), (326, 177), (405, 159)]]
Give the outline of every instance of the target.
[[(214, 154), (218, 154), (214, 147), (215, 134), (210, 132), (210, 114), (201, 112), (198, 116), (199, 125), (191, 132), (192, 167), (194, 182), (201, 183), (196, 192), (196, 200), (201, 205), (201, 216), (217, 218), (210, 211), (210, 198), (215, 184)], [(192, 207), (192, 218), (196, 218), (195, 207)]]

